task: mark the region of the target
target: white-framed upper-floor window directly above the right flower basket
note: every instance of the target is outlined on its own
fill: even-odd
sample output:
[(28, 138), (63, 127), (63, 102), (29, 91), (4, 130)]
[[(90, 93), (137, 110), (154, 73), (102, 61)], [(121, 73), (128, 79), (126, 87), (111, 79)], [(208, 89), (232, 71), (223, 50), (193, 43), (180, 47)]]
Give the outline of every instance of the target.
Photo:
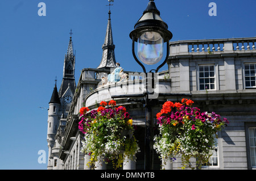
[(199, 90), (215, 90), (214, 65), (199, 66)]

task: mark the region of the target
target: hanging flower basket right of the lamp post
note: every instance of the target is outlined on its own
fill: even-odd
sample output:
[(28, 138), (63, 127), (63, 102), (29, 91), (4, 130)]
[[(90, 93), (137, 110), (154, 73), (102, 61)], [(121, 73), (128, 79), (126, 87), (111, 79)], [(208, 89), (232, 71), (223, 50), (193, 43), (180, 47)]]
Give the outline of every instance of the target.
[(156, 114), (160, 133), (154, 138), (154, 149), (163, 161), (174, 161), (181, 155), (182, 169), (195, 169), (189, 161), (192, 157), (199, 169), (208, 163), (211, 150), (215, 149), (216, 133), (228, 123), (214, 112), (200, 112), (192, 107), (193, 103), (190, 99), (182, 99), (181, 103), (167, 101)]

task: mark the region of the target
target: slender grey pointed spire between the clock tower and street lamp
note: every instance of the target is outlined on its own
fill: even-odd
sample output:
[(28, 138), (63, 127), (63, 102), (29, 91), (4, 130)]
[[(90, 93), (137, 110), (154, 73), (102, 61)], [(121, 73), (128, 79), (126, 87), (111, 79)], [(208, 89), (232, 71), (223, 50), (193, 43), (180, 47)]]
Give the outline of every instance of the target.
[(105, 41), (104, 41), (104, 44), (102, 45), (103, 52), (102, 52), (101, 63), (97, 69), (115, 68), (115, 53), (114, 53), (115, 45), (113, 43), (110, 14), (111, 12), (109, 10), (108, 26), (106, 29)]

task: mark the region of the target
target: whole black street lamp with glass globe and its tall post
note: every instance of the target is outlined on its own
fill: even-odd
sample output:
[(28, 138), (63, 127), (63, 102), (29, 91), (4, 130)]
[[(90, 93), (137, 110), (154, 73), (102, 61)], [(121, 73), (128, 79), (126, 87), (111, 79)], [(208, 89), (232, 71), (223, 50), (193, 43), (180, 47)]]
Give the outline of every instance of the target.
[[(144, 169), (153, 169), (153, 127), (154, 119), (152, 117), (152, 106), (158, 103), (157, 99), (149, 99), (148, 95), (148, 73), (143, 64), (154, 65), (163, 58), (164, 43), (167, 44), (166, 58), (155, 70), (158, 72), (169, 56), (170, 45), (169, 40), (172, 38), (172, 33), (168, 31), (168, 26), (160, 18), (160, 12), (155, 6), (154, 0), (148, 2), (146, 10), (144, 10), (142, 17), (134, 26), (134, 30), (130, 33), (130, 38), (133, 40), (133, 56), (135, 61), (141, 65), (146, 74), (146, 98), (143, 100), (146, 108), (146, 125), (145, 125), (145, 153), (144, 153)], [(137, 54), (135, 54), (134, 44), (137, 42)], [(152, 73), (152, 70), (149, 73)], [(154, 86), (154, 76), (152, 75), (152, 86)], [(154, 88), (154, 87), (153, 87)], [(151, 92), (152, 93), (152, 92)], [(131, 100), (131, 99), (130, 99)], [(136, 101), (136, 100), (135, 100)], [(137, 100), (139, 102), (140, 100)]]

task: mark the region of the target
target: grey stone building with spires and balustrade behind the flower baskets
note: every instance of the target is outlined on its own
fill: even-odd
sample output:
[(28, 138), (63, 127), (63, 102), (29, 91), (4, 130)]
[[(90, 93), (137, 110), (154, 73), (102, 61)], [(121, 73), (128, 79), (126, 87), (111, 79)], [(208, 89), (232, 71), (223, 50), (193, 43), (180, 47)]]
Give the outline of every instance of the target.
[[(155, 92), (162, 101), (180, 101), (168, 94), (191, 94), (195, 106), (203, 111), (216, 112), (229, 120), (229, 125), (218, 133), (218, 149), (203, 169), (255, 169), (256, 168), (256, 50), (255, 37), (210, 40), (184, 40), (170, 42), (168, 70), (158, 73)], [(102, 85), (101, 79), (115, 68), (114, 44), (109, 11), (108, 28), (102, 60), (98, 68), (82, 69), (76, 85), (75, 56), (72, 39), (64, 61), (63, 82), (59, 93), (55, 85), (49, 102), (47, 141), (48, 169), (90, 169), (89, 155), (80, 152), (83, 135), (79, 132), (79, 110), (90, 110), (102, 100), (115, 98), (125, 106), (137, 125), (135, 136), (141, 152), (137, 162), (128, 162), (123, 169), (143, 169), (144, 105), (127, 102), (130, 98), (143, 98), (143, 74), (126, 71), (129, 81)], [(72, 102), (69, 102), (69, 97)], [(67, 98), (67, 99), (65, 99)], [(154, 117), (161, 104), (156, 104)], [(161, 168), (158, 155), (154, 155), (154, 169)], [(168, 162), (166, 169), (178, 169), (180, 160)], [(109, 169), (101, 165), (97, 169)]]

